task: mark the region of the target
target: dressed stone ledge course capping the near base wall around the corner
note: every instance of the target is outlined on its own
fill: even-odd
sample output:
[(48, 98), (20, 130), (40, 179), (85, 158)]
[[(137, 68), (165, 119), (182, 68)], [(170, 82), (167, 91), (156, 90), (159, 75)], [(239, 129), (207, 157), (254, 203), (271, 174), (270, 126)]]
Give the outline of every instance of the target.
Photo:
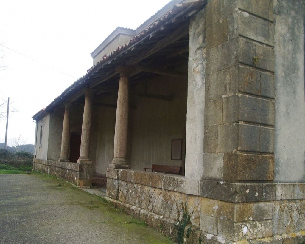
[(305, 199), (305, 183), (199, 181), (179, 175), (112, 168), (107, 169), (106, 177), (234, 203)]

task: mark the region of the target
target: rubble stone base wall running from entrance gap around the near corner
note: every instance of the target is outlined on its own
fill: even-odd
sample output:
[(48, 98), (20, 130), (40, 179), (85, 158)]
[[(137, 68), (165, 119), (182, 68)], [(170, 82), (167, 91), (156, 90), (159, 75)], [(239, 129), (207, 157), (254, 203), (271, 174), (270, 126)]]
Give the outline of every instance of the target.
[[(287, 184), (290, 195), (286, 184), (268, 184), (270, 189), (277, 189), (278, 199), (265, 196), (259, 200), (255, 200), (258, 193), (253, 198), (245, 197), (251, 194), (249, 189), (257, 190), (259, 184), (236, 184), (232, 195), (239, 198), (229, 198), (228, 193), (223, 201), (188, 194), (181, 176), (122, 169), (107, 169), (106, 176), (107, 196), (116, 206), (174, 239), (183, 223), (188, 234), (185, 238), (192, 234), (196, 242), (213, 239), (222, 243), (255, 243), (254, 240), (269, 238), (265, 242), (282, 243), (283, 239), (296, 237), (305, 241), (305, 199), (301, 198), (305, 184)], [(189, 217), (186, 223), (185, 216)]]

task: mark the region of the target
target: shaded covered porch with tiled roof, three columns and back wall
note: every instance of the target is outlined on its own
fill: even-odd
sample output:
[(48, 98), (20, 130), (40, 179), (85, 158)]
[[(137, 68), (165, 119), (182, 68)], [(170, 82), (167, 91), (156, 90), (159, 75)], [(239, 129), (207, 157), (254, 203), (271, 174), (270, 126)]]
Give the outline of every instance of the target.
[(178, 166), (184, 176), (189, 25), (205, 4), (175, 5), (34, 115), (39, 125), (48, 118), (47, 128), (37, 126), (36, 143), (44, 129), (48, 137), (34, 169), (78, 186), (107, 168)]

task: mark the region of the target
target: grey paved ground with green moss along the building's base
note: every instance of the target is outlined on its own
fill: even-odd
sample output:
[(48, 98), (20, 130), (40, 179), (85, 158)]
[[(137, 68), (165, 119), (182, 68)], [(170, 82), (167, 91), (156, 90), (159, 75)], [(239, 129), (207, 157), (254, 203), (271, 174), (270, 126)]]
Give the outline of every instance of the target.
[(173, 243), (106, 202), (50, 176), (0, 174), (0, 243)]

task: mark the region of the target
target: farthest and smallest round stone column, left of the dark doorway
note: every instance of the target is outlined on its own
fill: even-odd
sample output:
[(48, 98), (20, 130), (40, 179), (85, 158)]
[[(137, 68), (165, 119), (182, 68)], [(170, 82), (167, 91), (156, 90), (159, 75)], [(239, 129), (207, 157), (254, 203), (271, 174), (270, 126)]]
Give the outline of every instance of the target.
[(61, 150), (58, 161), (69, 162), (69, 139), (70, 139), (70, 103), (65, 103), (65, 114), (63, 117), (63, 133), (61, 136)]

